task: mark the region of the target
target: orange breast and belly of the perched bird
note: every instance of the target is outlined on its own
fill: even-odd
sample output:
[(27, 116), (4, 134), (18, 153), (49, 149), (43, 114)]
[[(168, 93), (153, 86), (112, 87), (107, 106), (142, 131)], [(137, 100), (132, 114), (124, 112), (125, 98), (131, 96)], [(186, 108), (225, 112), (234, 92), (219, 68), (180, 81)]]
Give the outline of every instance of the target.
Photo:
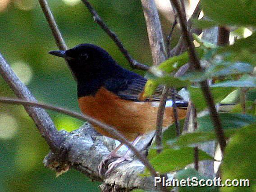
[[(82, 113), (113, 126), (129, 141), (133, 141), (140, 133), (149, 133), (155, 129), (158, 108), (151, 102), (123, 100), (102, 87), (95, 96), (80, 97), (78, 103)], [(178, 109), (179, 119), (185, 116), (186, 110)], [(165, 108), (163, 127), (171, 125), (173, 119), (172, 107)], [(93, 125), (102, 135), (114, 138), (101, 127)]]

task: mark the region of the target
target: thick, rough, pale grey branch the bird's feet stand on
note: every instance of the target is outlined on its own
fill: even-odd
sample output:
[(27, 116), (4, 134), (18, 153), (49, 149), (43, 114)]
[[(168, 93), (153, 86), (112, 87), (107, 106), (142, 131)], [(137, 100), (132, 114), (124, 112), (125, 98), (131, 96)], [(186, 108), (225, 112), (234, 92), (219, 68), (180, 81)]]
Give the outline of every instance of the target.
[[(134, 188), (146, 191), (160, 191), (160, 186), (154, 187), (154, 177), (140, 177), (145, 166), (134, 158), (131, 162), (125, 161), (108, 175), (102, 178), (98, 174), (98, 165), (102, 158), (115, 147), (113, 139), (96, 133), (89, 123), (71, 133), (61, 131), (64, 137), (64, 146), (67, 146), (66, 155), (56, 155), (50, 152), (44, 159), (47, 168), (61, 174), (68, 169), (76, 169), (92, 180), (103, 182), (102, 192), (127, 192)], [(141, 143), (138, 143), (138, 147)], [(62, 171), (64, 170), (64, 171)]]

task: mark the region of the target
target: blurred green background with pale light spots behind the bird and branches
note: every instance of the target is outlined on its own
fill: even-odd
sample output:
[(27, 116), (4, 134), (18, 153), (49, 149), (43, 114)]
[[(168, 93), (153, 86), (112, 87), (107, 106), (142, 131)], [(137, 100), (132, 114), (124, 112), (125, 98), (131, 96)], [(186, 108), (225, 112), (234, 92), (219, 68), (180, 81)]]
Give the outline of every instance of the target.
[[(173, 21), (169, 0), (155, 2), (167, 37)], [(151, 51), (140, 0), (91, 0), (90, 3), (133, 58), (150, 65)], [(69, 48), (80, 43), (96, 44), (130, 69), (117, 46), (93, 22), (80, 0), (49, 0), (49, 5)], [(190, 14), (196, 3), (187, 2), (187, 5)], [(37, 100), (79, 112), (76, 83), (64, 59), (47, 53), (58, 48), (38, 1), (0, 0), (0, 26), (0, 53)], [(179, 34), (176, 29), (172, 46)], [(141, 71), (136, 72), (143, 75)], [(0, 96), (15, 97), (2, 78)], [(83, 123), (64, 114), (48, 112), (59, 130), (71, 131)], [(23, 107), (0, 103), (0, 191), (99, 191), (101, 183), (91, 182), (76, 170), (55, 178), (55, 173), (42, 164), (48, 152), (49, 147)]]

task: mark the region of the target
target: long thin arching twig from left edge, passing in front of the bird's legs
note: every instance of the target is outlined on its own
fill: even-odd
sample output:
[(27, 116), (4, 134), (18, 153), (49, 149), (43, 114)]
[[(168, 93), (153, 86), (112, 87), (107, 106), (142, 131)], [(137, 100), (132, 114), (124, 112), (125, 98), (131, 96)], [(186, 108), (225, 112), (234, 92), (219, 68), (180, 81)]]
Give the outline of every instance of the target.
[(24, 106), (35, 106), (37, 108), (34, 109), (38, 109), (39, 108), (44, 108), (47, 110), (54, 110), (57, 111), (59, 113), (63, 113), (63, 114), (67, 114), (69, 116), (72, 116), (74, 118), (80, 119), (80, 120), (84, 120), (84, 121), (90, 121), (91, 123), (94, 123), (100, 127), (102, 127), (106, 132), (110, 133), (111, 135), (113, 135), (114, 137), (116, 137), (121, 143), (123, 143), (124, 145), (128, 146), (129, 149), (131, 149), (135, 155), (137, 155), (137, 157), (139, 158), (139, 160), (142, 161), (143, 165), (146, 166), (147, 169), (149, 169), (149, 171), (151, 172), (152, 176), (154, 177), (158, 177), (158, 174), (156, 173), (155, 169), (152, 167), (152, 165), (150, 164), (150, 162), (146, 159), (146, 157), (144, 155), (141, 154), (140, 151), (138, 151), (123, 135), (122, 133), (120, 133), (119, 131), (117, 131), (115, 128), (105, 124), (105, 123), (101, 123), (100, 121), (88, 116), (88, 115), (83, 115), (83, 114), (79, 114), (77, 112), (73, 112), (73, 111), (69, 111), (66, 110), (64, 108), (60, 108), (60, 107), (54, 107), (51, 105), (46, 105), (46, 104), (41, 104), (41, 103), (37, 103), (36, 101), (24, 101), (24, 100), (20, 100), (20, 99), (10, 99), (10, 98), (2, 98), (0, 97), (0, 102), (1, 103), (9, 103), (9, 104), (14, 104), (14, 105), (24, 105)]

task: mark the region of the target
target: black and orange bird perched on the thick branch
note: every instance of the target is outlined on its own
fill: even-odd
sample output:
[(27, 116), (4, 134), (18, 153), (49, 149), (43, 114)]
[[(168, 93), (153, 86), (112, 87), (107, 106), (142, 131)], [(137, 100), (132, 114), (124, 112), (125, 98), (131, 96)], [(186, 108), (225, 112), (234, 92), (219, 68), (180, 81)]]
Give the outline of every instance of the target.
[[(144, 134), (155, 130), (163, 86), (157, 87), (151, 98), (143, 98), (147, 79), (124, 69), (106, 50), (93, 44), (79, 44), (69, 50), (53, 50), (49, 53), (67, 60), (77, 80), (78, 106), (83, 114), (114, 127), (134, 146)], [(184, 119), (187, 101), (177, 93), (174, 97), (178, 119)], [(174, 102), (171, 98), (169, 92), (163, 117), (164, 128), (168, 128), (174, 122)], [(101, 126), (94, 123), (92, 125), (98, 133), (118, 139)], [(105, 175), (119, 163), (131, 160), (128, 152), (123, 156), (117, 153), (120, 146), (122, 143), (101, 161), (100, 175), (107, 160), (118, 157), (108, 166)]]

